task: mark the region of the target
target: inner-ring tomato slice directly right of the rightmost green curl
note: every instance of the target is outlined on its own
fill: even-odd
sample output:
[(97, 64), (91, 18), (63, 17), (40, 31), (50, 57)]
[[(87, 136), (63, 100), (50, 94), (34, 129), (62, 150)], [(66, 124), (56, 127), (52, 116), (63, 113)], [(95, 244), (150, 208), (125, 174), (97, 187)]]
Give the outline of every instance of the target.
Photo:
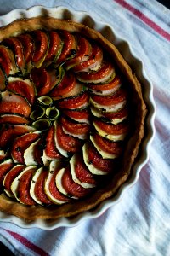
[(71, 109), (64, 109), (63, 113), (65, 113), (66, 116), (70, 117), (71, 119), (75, 120), (89, 120), (90, 119), (90, 113), (87, 108), (82, 110), (71, 110)]

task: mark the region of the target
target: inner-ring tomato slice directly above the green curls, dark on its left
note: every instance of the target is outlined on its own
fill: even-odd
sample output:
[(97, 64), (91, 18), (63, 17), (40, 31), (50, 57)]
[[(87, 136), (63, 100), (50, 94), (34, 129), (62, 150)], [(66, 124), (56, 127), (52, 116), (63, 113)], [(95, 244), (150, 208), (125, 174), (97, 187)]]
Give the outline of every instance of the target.
[(31, 79), (36, 84), (38, 96), (46, 95), (51, 90), (51, 78), (45, 68), (33, 68)]

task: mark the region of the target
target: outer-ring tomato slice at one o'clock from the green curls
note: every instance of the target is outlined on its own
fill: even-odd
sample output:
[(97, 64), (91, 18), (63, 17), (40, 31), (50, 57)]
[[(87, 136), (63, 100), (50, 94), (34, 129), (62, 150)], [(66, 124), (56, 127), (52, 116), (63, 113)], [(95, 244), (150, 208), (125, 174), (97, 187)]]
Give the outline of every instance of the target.
[(91, 45), (86, 38), (76, 35), (77, 55), (71, 60), (66, 61), (66, 69), (74, 67), (82, 61), (87, 61), (91, 53)]

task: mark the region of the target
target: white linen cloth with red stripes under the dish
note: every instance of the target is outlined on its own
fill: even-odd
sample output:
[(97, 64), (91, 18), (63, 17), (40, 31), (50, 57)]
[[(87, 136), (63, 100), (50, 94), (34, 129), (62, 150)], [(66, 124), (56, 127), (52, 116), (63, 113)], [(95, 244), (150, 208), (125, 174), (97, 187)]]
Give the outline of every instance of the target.
[(0, 222), (14, 255), (170, 255), (170, 11), (156, 0), (0, 1), (0, 14), (42, 4), (87, 11), (114, 27), (154, 85), (156, 135), (139, 181), (116, 206), (73, 228), (45, 231)]

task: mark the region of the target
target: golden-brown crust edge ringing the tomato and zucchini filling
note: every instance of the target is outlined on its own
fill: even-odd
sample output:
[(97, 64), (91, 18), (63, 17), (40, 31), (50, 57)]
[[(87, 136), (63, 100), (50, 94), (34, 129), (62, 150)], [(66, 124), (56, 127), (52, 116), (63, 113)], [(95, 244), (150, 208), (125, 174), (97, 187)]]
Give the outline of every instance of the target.
[(122, 160), (123, 168), (121, 172), (116, 174), (105, 189), (99, 189), (94, 195), (90, 196), (90, 198), (62, 206), (46, 208), (41, 206), (28, 207), (10, 200), (3, 194), (0, 195), (1, 211), (13, 214), (19, 218), (24, 218), (26, 221), (35, 220), (37, 218), (56, 219), (59, 217), (74, 216), (80, 212), (97, 207), (100, 202), (105, 201), (105, 199), (114, 195), (117, 189), (121, 187), (122, 183), (127, 181), (127, 177), (129, 177), (131, 173), (133, 162), (139, 151), (139, 145), (144, 137), (144, 119), (146, 115), (146, 106), (142, 96), (141, 85), (136, 76), (133, 75), (131, 68), (113, 44), (105, 39), (99, 32), (94, 31), (88, 26), (84, 26), (71, 20), (57, 20), (50, 17), (15, 20), (8, 26), (4, 26), (0, 29), (0, 41), (2, 41), (3, 38), (17, 36), (20, 33), (37, 29), (61, 29), (69, 32), (80, 32), (86, 37), (97, 40), (99, 44), (102, 44), (102, 46), (110, 52), (112, 58), (116, 61), (116, 64), (129, 82), (133, 92), (133, 104), (136, 107), (136, 116), (138, 116), (138, 119), (135, 120), (133, 136), (127, 143), (126, 152)]

